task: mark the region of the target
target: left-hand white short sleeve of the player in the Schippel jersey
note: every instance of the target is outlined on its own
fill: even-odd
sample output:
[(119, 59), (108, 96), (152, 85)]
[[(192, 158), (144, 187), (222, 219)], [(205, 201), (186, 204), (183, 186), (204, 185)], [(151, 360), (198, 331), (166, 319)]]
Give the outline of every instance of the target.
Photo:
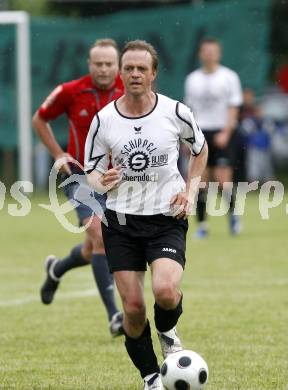
[(84, 170), (87, 173), (97, 170), (107, 171), (109, 166), (109, 148), (105, 142), (104, 125), (101, 124), (98, 114), (91, 122), (85, 143)]

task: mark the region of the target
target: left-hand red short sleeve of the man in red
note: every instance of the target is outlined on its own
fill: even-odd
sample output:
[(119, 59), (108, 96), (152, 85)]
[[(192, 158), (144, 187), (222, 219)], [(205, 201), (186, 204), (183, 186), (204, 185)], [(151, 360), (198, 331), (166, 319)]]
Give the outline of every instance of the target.
[(58, 85), (41, 104), (38, 113), (45, 121), (53, 120), (68, 110), (71, 93), (65, 84)]

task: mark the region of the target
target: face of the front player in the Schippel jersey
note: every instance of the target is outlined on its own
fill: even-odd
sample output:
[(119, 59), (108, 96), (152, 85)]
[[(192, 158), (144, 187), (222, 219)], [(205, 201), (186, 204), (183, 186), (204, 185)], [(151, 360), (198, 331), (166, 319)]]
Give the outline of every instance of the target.
[(149, 93), (156, 78), (152, 56), (146, 50), (128, 50), (121, 61), (120, 75), (126, 94), (140, 96)]

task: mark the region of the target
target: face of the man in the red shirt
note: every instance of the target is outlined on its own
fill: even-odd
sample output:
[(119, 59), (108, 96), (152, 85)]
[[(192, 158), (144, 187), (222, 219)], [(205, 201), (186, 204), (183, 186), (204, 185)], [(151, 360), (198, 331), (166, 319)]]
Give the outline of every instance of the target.
[(96, 46), (90, 50), (89, 72), (93, 83), (101, 89), (110, 88), (118, 73), (118, 53), (112, 46)]

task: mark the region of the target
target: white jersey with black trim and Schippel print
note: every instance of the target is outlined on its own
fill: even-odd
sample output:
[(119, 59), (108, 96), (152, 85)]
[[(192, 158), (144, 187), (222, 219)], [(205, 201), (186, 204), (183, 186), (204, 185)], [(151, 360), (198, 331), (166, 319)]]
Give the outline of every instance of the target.
[(108, 209), (135, 215), (168, 213), (173, 195), (185, 189), (177, 168), (179, 141), (193, 155), (201, 152), (205, 138), (184, 104), (156, 94), (150, 113), (126, 117), (117, 101), (94, 117), (85, 145), (85, 171), (104, 173), (122, 166), (122, 179), (107, 193)]

